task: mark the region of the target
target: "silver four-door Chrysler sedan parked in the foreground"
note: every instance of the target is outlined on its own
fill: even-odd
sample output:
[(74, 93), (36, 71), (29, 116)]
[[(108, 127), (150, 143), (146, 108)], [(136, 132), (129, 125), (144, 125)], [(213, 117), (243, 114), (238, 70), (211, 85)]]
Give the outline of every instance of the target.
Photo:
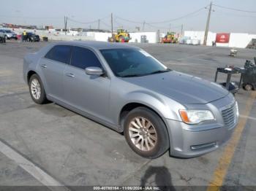
[(203, 155), (230, 139), (238, 123), (232, 93), (167, 69), (138, 47), (59, 42), (23, 61), (34, 102), (53, 101), (124, 132), (129, 147), (143, 157), (167, 149), (177, 157)]

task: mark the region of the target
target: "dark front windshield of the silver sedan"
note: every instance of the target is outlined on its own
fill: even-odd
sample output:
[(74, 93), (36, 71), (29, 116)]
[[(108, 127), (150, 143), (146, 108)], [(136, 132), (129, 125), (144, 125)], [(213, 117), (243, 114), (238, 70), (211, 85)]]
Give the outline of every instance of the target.
[(117, 77), (140, 77), (170, 71), (144, 50), (124, 48), (100, 52)]

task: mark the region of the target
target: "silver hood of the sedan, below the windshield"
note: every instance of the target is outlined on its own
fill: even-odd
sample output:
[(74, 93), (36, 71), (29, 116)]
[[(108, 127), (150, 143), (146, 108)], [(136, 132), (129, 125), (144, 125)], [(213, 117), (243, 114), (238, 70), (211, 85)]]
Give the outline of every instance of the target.
[(206, 104), (223, 98), (229, 93), (214, 82), (178, 71), (121, 79), (145, 87), (148, 90), (153, 90), (181, 104)]

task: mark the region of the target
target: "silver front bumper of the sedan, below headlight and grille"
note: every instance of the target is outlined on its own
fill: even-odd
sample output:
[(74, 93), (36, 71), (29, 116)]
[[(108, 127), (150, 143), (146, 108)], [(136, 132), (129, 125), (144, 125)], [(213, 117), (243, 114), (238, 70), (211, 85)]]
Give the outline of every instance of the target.
[(211, 152), (232, 136), (233, 128), (225, 125), (207, 125), (208, 130), (191, 131), (184, 122), (167, 120), (170, 130), (170, 155), (196, 157)]

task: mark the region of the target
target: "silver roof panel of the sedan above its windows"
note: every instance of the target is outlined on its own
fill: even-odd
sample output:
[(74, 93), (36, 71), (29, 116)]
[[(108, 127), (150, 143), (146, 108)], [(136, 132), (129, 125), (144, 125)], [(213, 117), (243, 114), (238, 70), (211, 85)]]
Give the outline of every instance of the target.
[(73, 45), (73, 46), (84, 46), (91, 47), (97, 50), (102, 49), (121, 49), (121, 48), (132, 48), (138, 47), (129, 46), (127, 44), (116, 43), (116, 42), (97, 42), (97, 41), (72, 41), (72, 42), (58, 42), (56, 45)]

